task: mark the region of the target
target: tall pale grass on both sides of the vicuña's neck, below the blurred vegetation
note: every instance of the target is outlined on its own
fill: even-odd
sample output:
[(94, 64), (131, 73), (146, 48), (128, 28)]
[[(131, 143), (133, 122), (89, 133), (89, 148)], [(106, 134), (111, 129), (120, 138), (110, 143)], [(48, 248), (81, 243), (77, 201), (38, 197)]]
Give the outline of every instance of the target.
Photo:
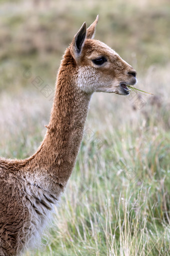
[[(48, 244), (26, 255), (169, 255), (169, 108), (154, 86), (141, 109), (126, 97), (93, 96)], [(23, 158), (38, 147), (51, 106), (38, 93), (2, 95), (1, 155)]]

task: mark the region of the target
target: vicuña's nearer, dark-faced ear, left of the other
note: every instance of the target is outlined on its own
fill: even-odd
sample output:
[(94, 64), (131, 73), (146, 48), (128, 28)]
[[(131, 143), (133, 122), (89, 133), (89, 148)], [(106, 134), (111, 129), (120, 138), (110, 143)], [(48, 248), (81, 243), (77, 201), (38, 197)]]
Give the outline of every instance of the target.
[(76, 33), (76, 35), (74, 36), (72, 43), (70, 45), (71, 53), (75, 60), (78, 60), (79, 57), (81, 56), (81, 51), (82, 51), (85, 39), (86, 39), (86, 23), (84, 22), (81, 28)]

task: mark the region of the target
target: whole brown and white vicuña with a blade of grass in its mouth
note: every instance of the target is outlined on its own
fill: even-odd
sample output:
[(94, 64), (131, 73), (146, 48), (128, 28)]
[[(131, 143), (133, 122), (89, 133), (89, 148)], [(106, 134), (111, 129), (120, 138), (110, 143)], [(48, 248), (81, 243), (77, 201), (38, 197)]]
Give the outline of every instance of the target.
[[(129, 94), (136, 72), (94, 40), (98, 17), (84, 23), (66, 49), (45, 137), (27, 159), (0, 157), (0, 255), (19, 255), (37, 245), (53, 205), (71, 175), (93, 92)], [(39, 239), (38, 239), (39, 238)]]

